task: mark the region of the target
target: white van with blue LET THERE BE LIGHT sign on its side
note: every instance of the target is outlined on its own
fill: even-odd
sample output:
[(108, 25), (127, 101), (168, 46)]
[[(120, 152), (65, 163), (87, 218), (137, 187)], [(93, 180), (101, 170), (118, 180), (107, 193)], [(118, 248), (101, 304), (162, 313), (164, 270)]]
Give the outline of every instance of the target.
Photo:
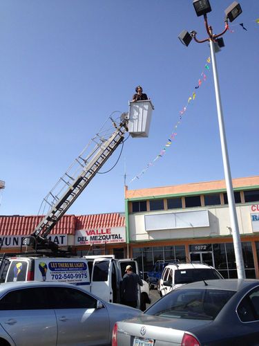
[[(120, 303), (121, 282), (126, 266), (131, 265), (139, 274), (137, 262), (132, 259), (116, 260), (114, 255), (85, 257), (6, 257), (1, 268), (1, 282), (55, 281), (68, 282), (92, 292), (106, 302)], [(138, 307), (144, 311), (150, 303), (149, 286), (143, 280), (139, 291)]]

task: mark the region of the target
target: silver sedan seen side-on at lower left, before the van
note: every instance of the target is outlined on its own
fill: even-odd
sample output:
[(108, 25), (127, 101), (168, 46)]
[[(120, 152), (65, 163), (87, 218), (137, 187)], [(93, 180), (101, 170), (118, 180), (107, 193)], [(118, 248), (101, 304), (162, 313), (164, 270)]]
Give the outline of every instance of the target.
[(141, 313), (58, 282), (0, 285), (0, 345), (111, 345), (117, 320)]

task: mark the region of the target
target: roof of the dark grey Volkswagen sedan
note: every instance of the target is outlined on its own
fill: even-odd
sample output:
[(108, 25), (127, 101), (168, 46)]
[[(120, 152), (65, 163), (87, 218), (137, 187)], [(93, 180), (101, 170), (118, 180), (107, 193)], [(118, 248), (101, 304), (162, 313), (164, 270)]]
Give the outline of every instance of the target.
[[(242, 291), (242, 289), (253, 288), (259, 285), (259, 280), (253, 279), (216, 279), (192, 282), (184, 285), (184, 289), (223, 289), (229, 291)], [(181, 288), (180, 288), (181, 289)]]

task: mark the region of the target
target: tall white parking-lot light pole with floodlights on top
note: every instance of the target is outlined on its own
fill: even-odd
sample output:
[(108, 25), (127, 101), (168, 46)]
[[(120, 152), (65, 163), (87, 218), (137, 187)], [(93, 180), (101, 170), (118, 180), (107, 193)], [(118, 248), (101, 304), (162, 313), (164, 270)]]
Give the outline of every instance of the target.
[[(207, 21), (207, 13), (211, 12), (211, 6), (209, 4), (209, 0), (194, 0), (193, 6), (195, 8), (195, 12), (198, 17), (203, 15), (204, 17), (204, 24), (205, 28), (208, 34), (208, 37), (206, 39), (197, 39), (196, 35), (197, 33), (193, 30), (191, 33), (188, 33), (186, 30), (185, 35), (180, 37), (179, 39), (181, 42), (188, 46), (191, 42), (191, 39), (186, 37), (186, 33), (188, 33), (191, 38), (195, 40), (195, 42), (203, 43), (203, 42), (209, 42), (209, 46), (211, 48), (211, 61), (213, 66), (213, 77), (214, 77), (214, 85), (215, 85), (215, 99), (217, 104), (217, 111), (218, 111), (218, 125), (220, 129), (220, 143), (221, 143), (221, 149), (222, 149), (222, 159), (223, 159), (223, 165), (224, 165), (224, 176), (227, 186), (227, 198), (229, 200), (229, 216), (231, 221), (231, 230), (232, 230), (232, 236), (233, 236), (233, 246), (235, 251), (235, 257), (236, 257), (236, 267), (238, 271), (238, 278), (244, 279), (245, 278), (245, 272), (244, 272), (244, 260), (242, 256), (242, 245), (240, 240), (240, 233), (238, 228), (238, 217), (236, 215), (236, 206), (235, 206), (235, 199), (233, 194), (233, 185), (232, 185), (232, 179), (231, 179), (231, 171), (229, 166), (229, 154), (227, 151), (227, 139), (224, 129), (224, 118), (222, 113), (222, 104), (220, 99), (220, 87), (218, 82), (218, 71), (217, 71), (217, 64), (215, 59), (215, 48), (217, 51), (220, 51), (221, 47), (224, 47), (224, 41), (222, 39), (222, 35), (227, 32), (229, 28), (228, 21), (233, 21), (242, 13), (241, 6), (238, 2), (234, 1), (231, 6), (225, 10), (226, 19), (225, 19), (225, 28), (222, 31), (222, 33), (218, 35), (213, 34), (212, 27), (209, 26)], [(184, 39), (185, 37), (185, 39)], [(220, 38), (219, 38), (220, 37)]]

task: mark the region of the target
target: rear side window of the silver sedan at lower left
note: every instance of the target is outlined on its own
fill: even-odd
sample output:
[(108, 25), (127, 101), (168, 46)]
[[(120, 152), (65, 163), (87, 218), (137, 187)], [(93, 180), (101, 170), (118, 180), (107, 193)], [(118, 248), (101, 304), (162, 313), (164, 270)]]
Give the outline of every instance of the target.
[(0, 310), (48, 309), (45, 287), (10, 291), (0, 300)]

